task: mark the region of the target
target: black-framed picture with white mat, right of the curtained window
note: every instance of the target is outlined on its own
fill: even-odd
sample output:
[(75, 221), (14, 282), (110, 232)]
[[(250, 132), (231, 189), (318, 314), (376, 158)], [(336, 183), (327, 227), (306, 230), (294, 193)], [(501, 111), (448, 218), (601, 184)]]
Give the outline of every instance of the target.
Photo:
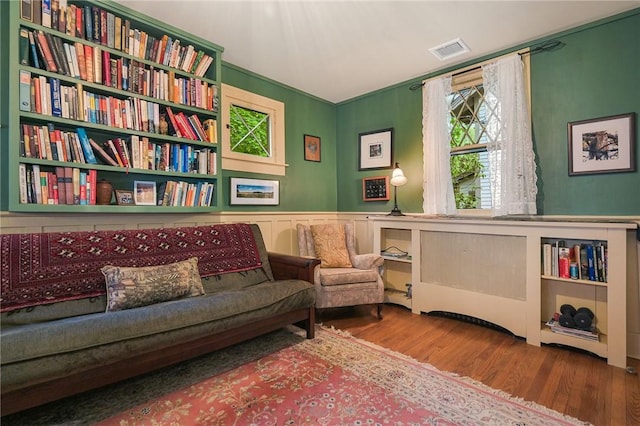
[(568, 124), (569, 176), (633, 172), (635, 113)]

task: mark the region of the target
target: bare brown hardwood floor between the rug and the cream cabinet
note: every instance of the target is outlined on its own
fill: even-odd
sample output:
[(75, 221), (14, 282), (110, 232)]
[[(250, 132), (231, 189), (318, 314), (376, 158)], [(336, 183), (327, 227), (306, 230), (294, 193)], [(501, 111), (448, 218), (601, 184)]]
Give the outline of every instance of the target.
[[(385, 305), (327, 309), (324, 325), (471, 377), (494, 389), (535, 401), (594, 425), (640, 425), (640, 378), (606, 360), (521, 338), (480, 325)], [(640, 361), (629, 358), (640, 370)]]

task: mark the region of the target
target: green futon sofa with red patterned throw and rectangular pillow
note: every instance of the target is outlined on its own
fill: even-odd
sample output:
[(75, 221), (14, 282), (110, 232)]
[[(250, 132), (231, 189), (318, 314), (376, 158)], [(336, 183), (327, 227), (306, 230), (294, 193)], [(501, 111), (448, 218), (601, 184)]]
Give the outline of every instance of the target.
[(316, 259), (250, 224), (0, 235), (2, 415), (299, 324)]

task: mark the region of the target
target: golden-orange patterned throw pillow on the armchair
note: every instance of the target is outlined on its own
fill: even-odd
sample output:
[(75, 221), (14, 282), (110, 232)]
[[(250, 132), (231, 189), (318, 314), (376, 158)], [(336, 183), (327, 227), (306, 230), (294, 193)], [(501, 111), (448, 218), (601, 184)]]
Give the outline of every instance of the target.
[(311, 225), (311, 235), (321, 268), (351, 268), (344, 225)]

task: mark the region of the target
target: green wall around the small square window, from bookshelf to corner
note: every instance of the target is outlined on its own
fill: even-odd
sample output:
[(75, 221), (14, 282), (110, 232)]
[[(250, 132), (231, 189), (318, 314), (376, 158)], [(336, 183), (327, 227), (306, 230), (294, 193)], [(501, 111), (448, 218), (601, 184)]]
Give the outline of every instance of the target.
[[(335, 105), (299, 92), (280, 83), (257, 76), (229, 64), (222, 66), (222, 82), (285, 104), (286, 163), (285, 176), (258, 175), (223, 170), (222, 187), (227, 211), (336, 211), (336, 116)], [(224, 125), (224, 123), (222, 123)], [(319, 136), (320, 162), (304, 160), (305, 134)], [(280, 205), (230, 206), (231, 177), (277, 179), (280, 181)]]

